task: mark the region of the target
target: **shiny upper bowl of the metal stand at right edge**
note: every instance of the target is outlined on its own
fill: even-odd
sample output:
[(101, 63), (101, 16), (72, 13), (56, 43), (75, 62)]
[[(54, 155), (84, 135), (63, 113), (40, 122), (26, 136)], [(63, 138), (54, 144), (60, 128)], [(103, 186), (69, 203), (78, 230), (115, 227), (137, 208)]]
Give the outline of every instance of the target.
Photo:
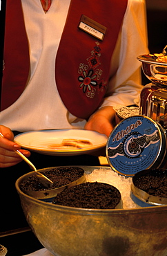
[(144, 74), (151, 82), (167, 86), (167, 62), (157, 62), (155, 55), (140, 55), (137, 60), (142, 63)]

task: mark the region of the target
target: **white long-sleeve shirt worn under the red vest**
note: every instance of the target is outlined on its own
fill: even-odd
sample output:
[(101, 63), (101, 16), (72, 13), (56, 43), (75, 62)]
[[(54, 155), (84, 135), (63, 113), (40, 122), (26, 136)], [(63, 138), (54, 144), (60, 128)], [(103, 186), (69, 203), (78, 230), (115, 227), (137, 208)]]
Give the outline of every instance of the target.
[[(55, 57), (70, 0), (52, 0), (46, 14), (39, 0), (21, 1), (30, 47), (30, 80), (19, 99), (1, 111), (0, 123), (17, 131), (82, 129), (86, 120), (69, 113), (55, 82)], [(101, 107), (134, 104), (142, 88), (137, 56), (145, 53), (148, 53), (145, 1), (128, 0)]]

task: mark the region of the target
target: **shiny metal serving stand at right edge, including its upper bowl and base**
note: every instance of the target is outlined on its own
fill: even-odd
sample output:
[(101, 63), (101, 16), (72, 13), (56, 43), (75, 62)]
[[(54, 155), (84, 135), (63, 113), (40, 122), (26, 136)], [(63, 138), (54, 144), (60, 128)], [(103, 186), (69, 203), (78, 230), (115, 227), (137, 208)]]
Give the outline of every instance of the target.
[(167, 46), (163, 53), (140, 55), (142, 69), (150, 84), (146, 84), (140, 93), (139, 114), (159, 122), (166, 129), (167, 99)]

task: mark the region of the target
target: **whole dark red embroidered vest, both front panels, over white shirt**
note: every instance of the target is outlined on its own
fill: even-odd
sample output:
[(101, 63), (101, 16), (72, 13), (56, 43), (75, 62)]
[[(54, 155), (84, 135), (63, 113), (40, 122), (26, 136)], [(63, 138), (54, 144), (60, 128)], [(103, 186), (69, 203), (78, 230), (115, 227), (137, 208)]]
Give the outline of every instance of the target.
[[(88, 118), (104, 98), (127, 1), (71, 0), (57, 52), (55, 79), (63, 104), (79, 118)], [(89, 18), (87, 31), (79, 28), (82, 15)], [(91, 33), (101, 25), (106, 27), (103, 40)], [(19, 98), (28, 82), (30, 60), (20, 0), (7, 1), (4, 64), (1, 110)]]

